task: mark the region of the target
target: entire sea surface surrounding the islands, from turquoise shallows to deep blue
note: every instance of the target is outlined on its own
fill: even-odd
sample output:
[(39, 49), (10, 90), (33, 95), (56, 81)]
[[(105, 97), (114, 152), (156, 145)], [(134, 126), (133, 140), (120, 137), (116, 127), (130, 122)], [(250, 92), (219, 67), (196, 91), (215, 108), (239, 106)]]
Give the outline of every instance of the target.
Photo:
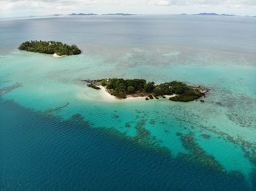
[[(256, 190), (256, 18), (0, 21), (0, 190)], [(77, 44), (53, 58), (22, 42)], [(204, 103), (108, 101), (80, 79), (179, 80)]]

